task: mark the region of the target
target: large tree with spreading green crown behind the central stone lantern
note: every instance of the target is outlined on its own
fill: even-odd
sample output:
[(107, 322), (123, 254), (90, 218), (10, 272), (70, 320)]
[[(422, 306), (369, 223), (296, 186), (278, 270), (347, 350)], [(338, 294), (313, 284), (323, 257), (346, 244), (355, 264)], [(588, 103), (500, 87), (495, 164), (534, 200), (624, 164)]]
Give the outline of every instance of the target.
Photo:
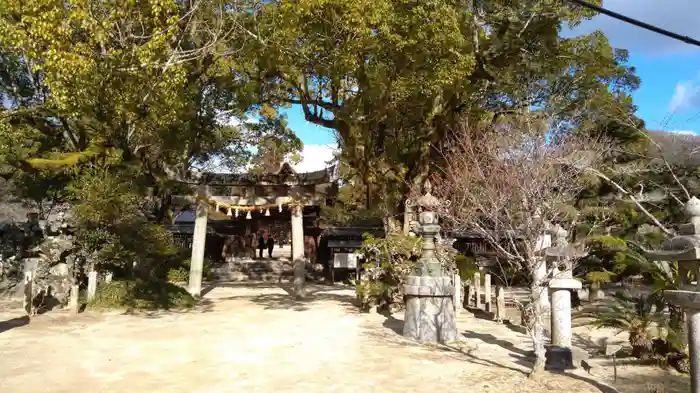
[(590, 16), (549, 0), (274, 1), (258, 13), (259, 58), (241, 70), (260, 100), (334, 130), (364, 183), (393, 183), (399, 201), (459, 118), (536, 109), (591, 130), (632, 110), (626, 52), (600, 32), (560, 36)]

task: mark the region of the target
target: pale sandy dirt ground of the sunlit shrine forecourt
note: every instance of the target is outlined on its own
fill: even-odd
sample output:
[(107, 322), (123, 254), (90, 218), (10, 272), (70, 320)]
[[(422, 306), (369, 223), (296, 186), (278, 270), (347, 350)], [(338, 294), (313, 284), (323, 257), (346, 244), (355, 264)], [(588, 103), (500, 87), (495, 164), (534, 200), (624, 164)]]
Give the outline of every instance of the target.
[[(358, 313), (352, 290), (312, 293), (295, 302), (274, 285), (222, 284), (186, 313), (51, 312), (28, 322), (21, 311), (0, 310), (0, 392), (644, 393), (649, 384), (668, 393), (689, 390), (687, 377), (624, 359), (613, 383), (611, 361), (602, 356), (590, 361), (590, 374), (530, 381), (528, 340), (508, 326), (465, 311), (460, 343), (421, 346), (397, 333), (401, 315)], [(577, 343), (591, 351), (611, 337), (578, 330)]]

